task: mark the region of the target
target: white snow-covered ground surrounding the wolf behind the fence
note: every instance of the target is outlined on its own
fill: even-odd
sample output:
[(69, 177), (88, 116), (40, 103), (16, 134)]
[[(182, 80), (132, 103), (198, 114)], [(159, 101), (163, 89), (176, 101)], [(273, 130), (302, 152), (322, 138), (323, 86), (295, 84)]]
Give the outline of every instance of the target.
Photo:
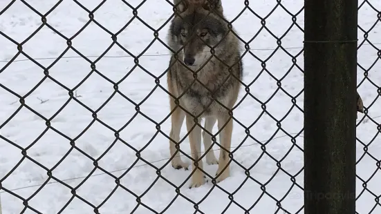
[[(26, 2), (41, 14), (46, 14), (57, 3), (53, 0)], [(100, 0), (79, 2), (89, 10), (93, 10), (101, 3)], [(127, 2), (133, 7), (141, 3), (140, 0)], [(283, 0), (281, 4), (290, 13), (296, 14), (301, 10), (303, 2), (302, 0)], [(376, 10), (381, 10), (379, 0), (368, 0), (368, 2)], [(6, 8), (8, 3), (10, 1), (0, 1), (0, 10)], [(261, 17), (266, 17), (275, 6), (277, 6), (275, 0), (250, 2), (252, 10)], [(223, 0), (223, 7), (227, 19), (232, 20), (243, 10), (244, 3)], [(138, 9), (138, 17), (152, 28), (158, 29), (171, 17), (171, 11), (171, 6), (165, 0), (148, 0)], [(95, 21), (113, 33), (121, 30), (131, 18), (133, 18), (133, 10), (120, 0), (105, 1), (94, 12)], [(376, 86), (369, 80), (365, 80), (358, 91), (364, 105), (371, 107), (369, 116), (380, 124), (381, 117), (378, 116), (381, 115), (381, 99), (374, 101), (378, 97), (377, 87), (381, 86), (380, 60), (375, 63), (378, 58), (376, 48), (381, 48), (381, 21), (375, 25), (378, 19), (377, 12), (369, 4), (365, 3), (360, 8), (359, 24), (367, 31), (367, 39), (374, 45), (371, 46), (365, 41), (359, 49), (358, 61), (364, 69), (373, 66), (367, 76)], [(62, 1), (53, 12), (47, 15), (48, 25), (68, 38), (73, 37), (88, 21), (89, 12), (71, 0)], [(213, 188), (210, 183), (200, 188), (189, 189), (186, 182), (180, 188), (181, 195), (176, 197), (178, 195), (176, 188), (156, 174), (157, 168), (162, 168), (161, 176), (178, 186), (183, 184), (190, 173), (190, 171), (176, 171), (167, 164), (169, 140), (162, 135), (162, 133), (169, 135), (170, 119), (166, 119), (169, 114), (169, 102), (165, 91), (156, 87), (155, 77), (162, 75), (167, 69), (169, 51), (159, 41), (154, 41), (154, 32), (138, 19), (133, 19), (129, 26), (120, 32), (118, 43), (134, 55), (142, 53), (149, 43), (154, 41), (139, 58), (140, 66), (150, 72), (151, 75), (149, 75), (142, 68), (135, 68), (133, 57), (129, 57), (127, 52), (118, 45), (111, 46), (113, 43), (111, 35), (91, 22), (71, 40), (73, 48), (81, 52), (88, 60), (80, 57), (75, 51), (68, 50), (64, 58), (50, 66), (68, 46), (66, 39), (47, 26), (41, 27), (34, 37), (24, 43), (32, 32), (40, 28), (41, 23), (41, 17), (21, 1), (15, 1), (0, 15), (1, 33), (22, 43), (22, 50), (40, 64), (39, 66), (23, 55), (19, 55), (5, 68), (7, 61), (10, 61), (18, 50), (15, 43), (0, 36), (0, 182), (3, 187), (0, 192), (3, 214), (21, 213), (25, 206), (20, 197), (28, 200), (28, 206), (35, 209), (32, 211), (26, 208), (24, 213), (93, 213), (95, 207), (100, 213), (131, 213), (132, 211), (155, 213), (146, 208), (147, 206), (160, 213), (173, 200), (173, 204), (165, 213), (195, 213), (194, 204), (189, 200), (198, 204), (199, 210), (207, 214), (222, 213), (227, 207), (225, 213), (243, 213), (240, 206), (250, 209), (250, 213), (276, 213), (278, 209), (276, 200), (281, 200), (281, 206), (286, 213), (297, 213), (301, 209), (304, 201), (303, 193), (299, 187), (293, 185), (293, 179), (290, 177), (290, 175), (295, 176), (295, 183), (303, 186), (303, 171), (301, 171), (303, 153), (297, 148), (297, 146), (303, 148), (303, 133), (300, 133), (303, 127), (303, 114), (297, 107), (292, 107), (290, 97), (290, 95), (298, 95), (297, 105), (303, 108), (303, 93), (301, 93), (303, 73), (297, 66), (292, 66), (292, 57), (290, 57), (290, 55), (297, 56), (297, 64), (303, 68), (303, 55), (300, 54), (303, 46), (303, 32), (297, 26), (292, 26), (287, 35), (281, 39), (281, 44), (288, 53), (277, 50), (272, 55), (277, 48), (277, 40), (265, 29), (250, 43), (252, 53), (261, 60), (266, 60), (266, 68), (275, 78), (283, 78), (290, 70), (288, 75), (281, 79), (281, 86), (289, 95), (279, 90), (277, 80), (266, 71), (261, 72), (261, 61), (250, 54), (243, 57), (245, 73), (243, 81), (245, 84), (250, 84), (257, 78), (250, 86), (250, 93), (262, 102), (266, 102), (266, 110), (272, 115), (267, 113), (262, 115), (261, 104), (250, 96), (246, 96), (234, 111), (236, 119), (243, 126), (234, 122), (232, 150), (234, 150), (236, 161), (245, 168), (250, 168), (252, 178), (247, 179), (245, 169), (239, 164), (232, 164), (231, 177), (219, 184), (225, 191), (217, 187)], [(303, 28), (303, 12), (297, 16), (297, 23)], [(239, 35), (245, 41), (249, 41), (261, 28), (261, 21), (252, 12), (245, 10), (233, 25)], [(277, 37), (281, 37), (291, 25), (291, 15), (281, 6), (277, 6), (277, 9), (266, 19), (266, 27)], [(162, 41), (166, 41), (167, 30), (168, 25), (159, 31), (159, 38)], [(363, 38), (364, 32), (359, 29), (359, 44)], [(110, 46), (104, 57), (98, 59)], [(270, 55), (272, 57), (268, 59)], [(89, 61), (96, 61), (95, 66), (99, 73), (91, 72)], [(48, 68), (48, 78), (44, 74), (44, 68)], [(121, 81), (129, 72), (131, 73), (128, 77)], [(107, 77), (109, 81), (100, 74)], [(163, 88), (167, 88), (165, 78), (165, 75), (160, 78), (160, 85)], [(360, 84), (362, 79), (364, 79), (364, 71), (359, 67), (357, 82)], [(41, 85), (34, 88), (40, 81), (42, 81)], [(56, 81), (66, 88), (57, 84)], [(120, 93), (134, 103), (119, 93), (115, 93), (112, 81), (121, 81), (118, 84)], [(25, 104), (28, 107), (21, 108), (19, 97), (8, 92), (4, 87), (14, 91), (18, 96), (25, 96)], [(68, 89), (75, 90), (74, 97), (77, 101), (70, 98)], [(275, 96), (272, 97), (274, 93)], [(240, 98), (244, 96), (245, 91), (241, 90)], [(106, 101), (108, 101), (107, 104), (102, 106)], [(162, 133), (158, 132), (154, 122), (136, 112), (135, 104), (139, 104), (140, 112), (146, 117), (157, 123), (162, 122), (160, 124)], [(64, 105), (66, 106), (62, 109)], [(84, 105), (88, 107), (85, 108)], [(28, 108), (35, 110), (35, 113)], [(103, 124), (94, 121), (90, 109), (96, 111), (97, 119)], [(59, 113), (56, 115), (57, 111)], [(16, 112), (17, 114), (8, 121), (8, 118)], [(288, 116), (284, 118), (286, 114)], [(256, 121), (259, 116), (261, 116), (260, 119)], [(367, 153), (380, 161), (381, 142), (377, 125), (372, 119), (362, 119), (362, 116), (359, 115), (358, 118), (357, 138), (363, 144), (369, 144), (373, 140), (373, 143), (368, 146)], [(272, 117), (281, 120), (281, 130)], [(54, 130), (47, 128), (46, 119), (50, 121), (50, 126)], [(131, 123), (124, 128), (130, 120)], [(252, 125), (254, 121), (256, 122)], [(3, 124), (4, 122), (6, 124)], [(244, 126), (251, 126), (250, 137), (245, 133)], [(115, 130), (121, 128), (124, 128), (119, 133), (123, 142), (116, 140), (114, 135)], [(216, 131), (215, 127), (214, 133)], [(296, 137), (297, 146), (292, 144), (292, 138), (285, 132)], [(183, 126), (181, 136), (185, 133), (185, 126)], [(75, 140), (76, 148), (71, 146), (69, 139)], [(267, 141), (268, 139), (271, 139), (270, 142)], [(263, 153), (258, 141), (266, 144), (266, 152), (272, 157)], [(19, 148), (12, 144), (17, 144)], [(23, 157), (21, 147), (27, 148), (28, 157)], [(140, 150), (140, 156), (151, 164), (137, 160), (136, 151), (131, 147)], [(187, 139), (182, 143), (181, 148), (185, 153), (190, 153)], [(219, 155), (218, 147), (215, 146), (214, 149), (216, 155)], [(65, 158), (62, 160), (63, 157)], [(111, 174), (105, 174), (100, 169), (94, 170), (95, 159), (100, 168), (114, 177), (111, 177)], [(275, 159), (281, 161), (281, 168), (289, 175), (279, 170)], [(357, 175), (366, 181), (366, 189), (375, 195), (381, 195), (380, 168), (376, 166), (377, 161), (369, 154), (364, 155), (364, 146), (360, 142), (357, 142), (357, 159), (361, 159), (357, 164)], [(187, 162), (189, 161), (187, 159)], [(17, 168), (13, 171), (15, 166)], [(206, 164), (204, 166), (208, 173), (214, 175), (217, 166)], [(47, 169), (53, 170), (53, 177), (66, 184), (55, 182), (53, 178), (48, 179)], [(10, 171), (12, 173), (8, 175)], [(123, 188), (115, 188), (117, 186), (115, 177), (127, 171), (128, 173), (120, 178)], [(375, 171), (378, 173), (373, 175)], [(89, 175), (92, 176), (86, 179), (85, 177)], [(372, 175), (372, 179), (368, 181)], [(376, 206), (375, 196), (369, 191), (364, 191), (364, 181), (357, 179), (357, 195), (362, 194), (357, 200), (358, 213), (369, 213)], [(46, 182), (51, 184), (41, 188), (40, 185)], [(241, 186), (242, 183), (244, 183), (243, 186)], [(266, 193), (263, 193), (265, 189), (261, 188), (261, 184), (266, 187)], [(73, 197), (71, 188), (75, 188), (77, 197)], [(4, 189), (12, 193), (5, 192)], [(234, 202), (231, 203), (227, 192), (234, 194)], [(207, 194), (209, 195), (203, 200)], [(136, 196), (141, 202), (139, 206)], [(278, 211), (278, 213), (283, 212)], [(377, 205), (373, 213), (380, 212), (381, 206)]]

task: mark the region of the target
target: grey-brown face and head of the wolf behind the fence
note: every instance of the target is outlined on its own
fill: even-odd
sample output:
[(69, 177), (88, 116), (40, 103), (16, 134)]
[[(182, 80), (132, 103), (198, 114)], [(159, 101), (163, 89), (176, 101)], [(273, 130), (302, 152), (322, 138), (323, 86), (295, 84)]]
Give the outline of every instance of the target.
[(210, 46), (214, 50), (223, 49), (221, 41), (229, 31), (227, 23), (216, 14), (204, 8), (188, 8), (176, 16), (170, 25), (170, 46), (175, 51), (184, 47), (180, 53), (187, 66), (201, 66), (210, 58)]

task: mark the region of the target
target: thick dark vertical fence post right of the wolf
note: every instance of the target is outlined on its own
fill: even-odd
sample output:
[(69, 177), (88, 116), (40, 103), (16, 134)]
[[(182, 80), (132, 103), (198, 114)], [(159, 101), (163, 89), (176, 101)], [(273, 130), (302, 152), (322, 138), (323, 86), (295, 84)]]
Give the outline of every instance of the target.
[(304, 211), (354, 214), (357, 0), (304, 3)]

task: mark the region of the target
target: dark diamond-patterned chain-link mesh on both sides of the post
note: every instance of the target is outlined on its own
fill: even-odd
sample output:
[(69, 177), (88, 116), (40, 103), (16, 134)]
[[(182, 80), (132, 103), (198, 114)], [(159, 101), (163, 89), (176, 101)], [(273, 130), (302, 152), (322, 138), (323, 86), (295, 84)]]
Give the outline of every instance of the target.
[[(223, 0), (205, 31), (170, 0), (2, 1), (3, 213), (304, 213), (303, 3)], [(356, 213), (380, 213), (381, 3), (358, 12)]]

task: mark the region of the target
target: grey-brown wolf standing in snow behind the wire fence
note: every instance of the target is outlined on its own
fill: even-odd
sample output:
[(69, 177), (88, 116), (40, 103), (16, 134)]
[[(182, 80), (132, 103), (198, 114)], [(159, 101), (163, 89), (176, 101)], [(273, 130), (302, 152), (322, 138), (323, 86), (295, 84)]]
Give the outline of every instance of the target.
[[(201, 136), (205, 151), (210, 149), (206, 154), (207, 164), (219, 165), (216, 182), (230, 176), (229, 153), (233, 130), (230, 110), (239, 95), (243, 66), (239, 40), (223, 21), (225, 17), (221, 5), (217, 10), (211, 10), (205, 4), (195, 6), (189, 1), (199, 0), (187, 0), (169, 26), (169, 47), (178, 54), (171, 55), (167, 84), (173, 111), (169, 133), (169, 150), (173, 157), (171, 164), (176, 169), (187, 169), (189, 166), (180, 158), (180, 152), (177, 151), (179, 147), (176, 146), (185, 119), (192, 153), (193, 174), (189, 188), (193, 188), (206, 182), (200, 158)], [(216, 14), (218, 12), (219, 15)], [(214, 56), (210, 47), (214, 48)], [(205, 118), (204, 130), (201, 128), (201, 118)], [(208, 134), (212, 133), (216, 121), (220, 131), (219, 144), (222, 146), (219, 160), (210, 148), (212, 137)]]

